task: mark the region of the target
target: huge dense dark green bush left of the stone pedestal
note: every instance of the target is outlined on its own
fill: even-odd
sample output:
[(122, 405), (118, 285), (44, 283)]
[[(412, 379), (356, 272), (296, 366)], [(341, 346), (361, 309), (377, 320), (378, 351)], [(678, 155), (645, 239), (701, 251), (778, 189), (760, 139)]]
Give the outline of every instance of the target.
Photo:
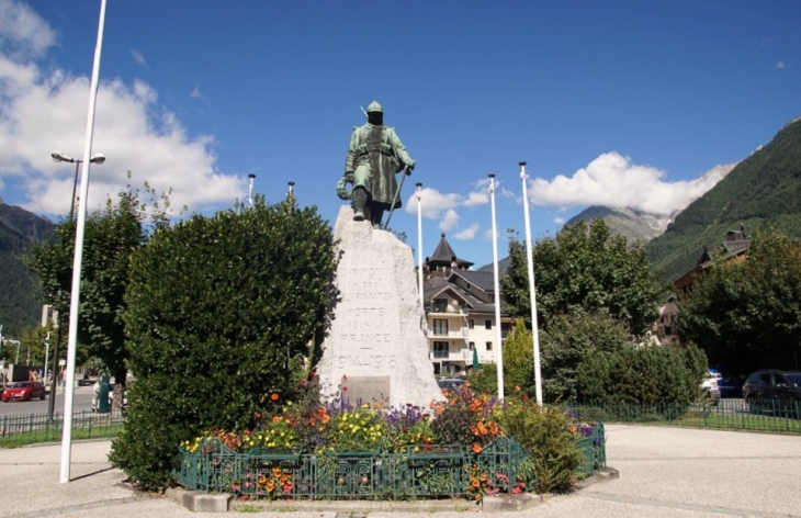
[(163, 487), (176, 444), (202, 430), (250, 428), (279, 390), (293, 399), (293, 358), (329, 325), (330, 227), (293, 200), (155, 233), (131, 259), (124, 314), (136, 376), (111, 460)]

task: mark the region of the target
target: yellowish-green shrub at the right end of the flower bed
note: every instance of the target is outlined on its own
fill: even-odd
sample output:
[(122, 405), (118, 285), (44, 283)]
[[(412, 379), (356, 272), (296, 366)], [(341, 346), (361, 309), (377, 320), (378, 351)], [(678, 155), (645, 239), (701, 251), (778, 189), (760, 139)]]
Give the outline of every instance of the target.
[(583, 455), (562, 409), (508, 398), (498, 420), (504, 431), (530, 452), (530, 459), (521, 468), (528, 480), (535, 481), (537, 493), (571, 486)]

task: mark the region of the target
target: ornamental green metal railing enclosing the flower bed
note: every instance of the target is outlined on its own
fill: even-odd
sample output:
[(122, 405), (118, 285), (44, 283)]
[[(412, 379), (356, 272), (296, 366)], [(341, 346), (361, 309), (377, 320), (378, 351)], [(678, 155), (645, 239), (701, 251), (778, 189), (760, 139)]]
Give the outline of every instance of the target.
[[(576, 476), (606, 468), (603, 425), (579, 439), (583, 461)], [(481, 453), (459, 446), (431, 446), (405, 453), (382, 451), (305, 454), (253, 448), (247, 453), (217, 438), (182, 448), (179, 485), (191, 491), (233, 493), (252, 499), (415, 499), (464, 496), (470, 486), (488, 493), (518, 493), (520, 469), (529, 458), (515, 438), (500, 437)]]

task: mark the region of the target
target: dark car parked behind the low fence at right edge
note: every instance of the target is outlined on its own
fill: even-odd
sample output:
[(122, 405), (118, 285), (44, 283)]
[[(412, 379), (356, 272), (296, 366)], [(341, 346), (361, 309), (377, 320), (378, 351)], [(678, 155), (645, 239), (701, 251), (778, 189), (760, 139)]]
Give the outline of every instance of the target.
[(798, 409), (801, 405), (801, 372), (756, 371), (743, 383), (743, 398), (752, 410)]

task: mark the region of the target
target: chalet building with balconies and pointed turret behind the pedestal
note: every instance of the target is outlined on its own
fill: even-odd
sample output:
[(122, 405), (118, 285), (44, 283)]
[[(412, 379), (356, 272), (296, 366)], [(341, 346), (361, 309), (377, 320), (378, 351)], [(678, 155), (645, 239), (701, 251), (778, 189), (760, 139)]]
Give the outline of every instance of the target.
[[(435, 374), (465, 374), (473, 365), (496, 361), (497, 325), (492, 271), (473, 271), (442, 234), (424, 262), (424, 302), (428, 324), (428, 356)], [(510, 318), (500, 314), (501, 339)]]

